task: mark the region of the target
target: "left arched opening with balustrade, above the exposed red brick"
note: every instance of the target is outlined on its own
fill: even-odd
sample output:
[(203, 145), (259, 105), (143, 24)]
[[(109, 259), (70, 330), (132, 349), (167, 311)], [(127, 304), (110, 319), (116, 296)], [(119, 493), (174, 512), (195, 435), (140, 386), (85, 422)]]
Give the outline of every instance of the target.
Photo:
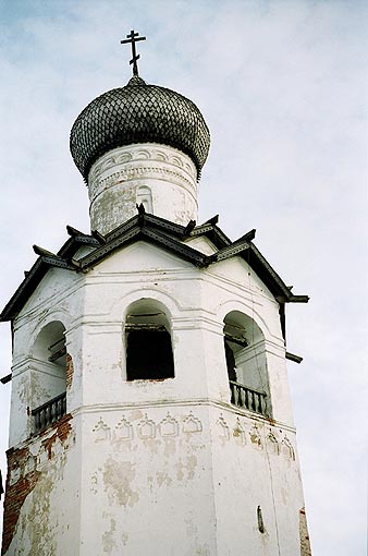
[(45, 326), (33, 349), (30, 407), (34, 431), (66, 413), (65, 328), (60, 322)]

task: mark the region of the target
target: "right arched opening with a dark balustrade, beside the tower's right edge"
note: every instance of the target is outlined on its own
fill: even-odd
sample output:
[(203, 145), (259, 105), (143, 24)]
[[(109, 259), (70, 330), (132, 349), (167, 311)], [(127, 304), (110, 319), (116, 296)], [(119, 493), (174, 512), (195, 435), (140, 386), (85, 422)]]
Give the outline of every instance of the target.
[(265, 337), (253, 318), (232, 311), (224, 318), (224, 350), (231, 402), (268, 414)]

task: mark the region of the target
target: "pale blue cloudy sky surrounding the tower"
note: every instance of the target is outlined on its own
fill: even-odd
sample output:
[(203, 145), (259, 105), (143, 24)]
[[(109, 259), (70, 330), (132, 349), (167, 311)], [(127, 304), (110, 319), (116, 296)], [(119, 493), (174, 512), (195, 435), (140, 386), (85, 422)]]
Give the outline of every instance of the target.
[[(211, 132), (200, 221), (220, 214), (293, 292), (287, 350), (314, 556), (366, 554), (367, 5), (303, 0), (0, 0), (1, 309), (66, 223), (89, 231), (69, 133), (139, 73), (195, 101)], [(0, 374), (11, 368), (0, 324)], [(0, 384), (5, 473), (11, 385)]]

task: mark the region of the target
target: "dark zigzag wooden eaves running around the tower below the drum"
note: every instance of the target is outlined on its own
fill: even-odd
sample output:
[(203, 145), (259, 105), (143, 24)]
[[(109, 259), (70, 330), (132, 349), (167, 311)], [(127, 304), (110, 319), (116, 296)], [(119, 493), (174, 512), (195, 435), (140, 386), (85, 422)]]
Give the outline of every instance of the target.
[[(279, 303), (306, 303), (309, 299), (307, 295), (294, 295), (291, 289), (285, 286), (280, 276), (252, 242), (255, 230), (231, 242), (216, 222), (208, 221), (195, 227), (188, 235), (185, 235), (187, 227), (149, 214), (134, 216), (105, 237), (98, 232), (93, 232), (95, 235), (88, 235), (71, 227), (69, 228), (72, 237), (62, 245), (57, 255), (37, 247), (36, 251), (40, 253), (40, 256), (3, 309), (0, 314), (0, 321), (12, 321), (16, 317), (50, 267), (73, 271), (88, 271), (115, 251), (136, 241), (146, 241), (198, 268), (208, 267), (211, 264), (233, 256), (241, 256), (268, 287)], [(212, 242), (218, 250), (217, 253), (205, 255), (184, 242), (185, 239), (201, 235)], [(95, 249), (77, 261), (73, 259), (73, 256), (82, 245), (89, 245)]]

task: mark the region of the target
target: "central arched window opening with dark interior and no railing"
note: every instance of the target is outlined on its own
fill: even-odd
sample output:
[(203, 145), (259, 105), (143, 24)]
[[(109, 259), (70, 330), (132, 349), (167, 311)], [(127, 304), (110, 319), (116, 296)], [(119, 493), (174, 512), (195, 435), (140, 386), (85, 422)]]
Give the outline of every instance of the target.
[(134, 303), (125, 321), (126, 379), (162, 380), (174, 377), (170, 324), (155, 300)]

